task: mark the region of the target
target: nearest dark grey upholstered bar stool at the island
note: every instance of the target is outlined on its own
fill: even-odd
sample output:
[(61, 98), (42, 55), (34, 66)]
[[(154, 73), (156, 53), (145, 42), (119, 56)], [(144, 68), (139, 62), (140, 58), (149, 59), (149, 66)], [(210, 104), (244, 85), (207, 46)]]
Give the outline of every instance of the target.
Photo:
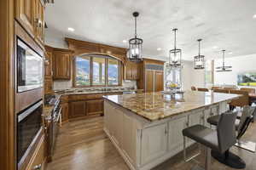
[[(229, 149), (233, 144), (236, 144), (235, 131), (236, 112), (225, 112), (219, 117), (217, 130), (211, 128), (195, 125), (183, 129), (183, 154), (184, 160), (186, 158), (186, 137), (195, 140), (207, 147), (207, 158), (205, 169), (211, 169), (211, 150), (227, 155), (229, 157)], [(195, 156), (193, 156), (195, 157)], [(188, 159), (191, 160), (191, 159)], [(193, 170), (201, 169), (193, 168)]]

